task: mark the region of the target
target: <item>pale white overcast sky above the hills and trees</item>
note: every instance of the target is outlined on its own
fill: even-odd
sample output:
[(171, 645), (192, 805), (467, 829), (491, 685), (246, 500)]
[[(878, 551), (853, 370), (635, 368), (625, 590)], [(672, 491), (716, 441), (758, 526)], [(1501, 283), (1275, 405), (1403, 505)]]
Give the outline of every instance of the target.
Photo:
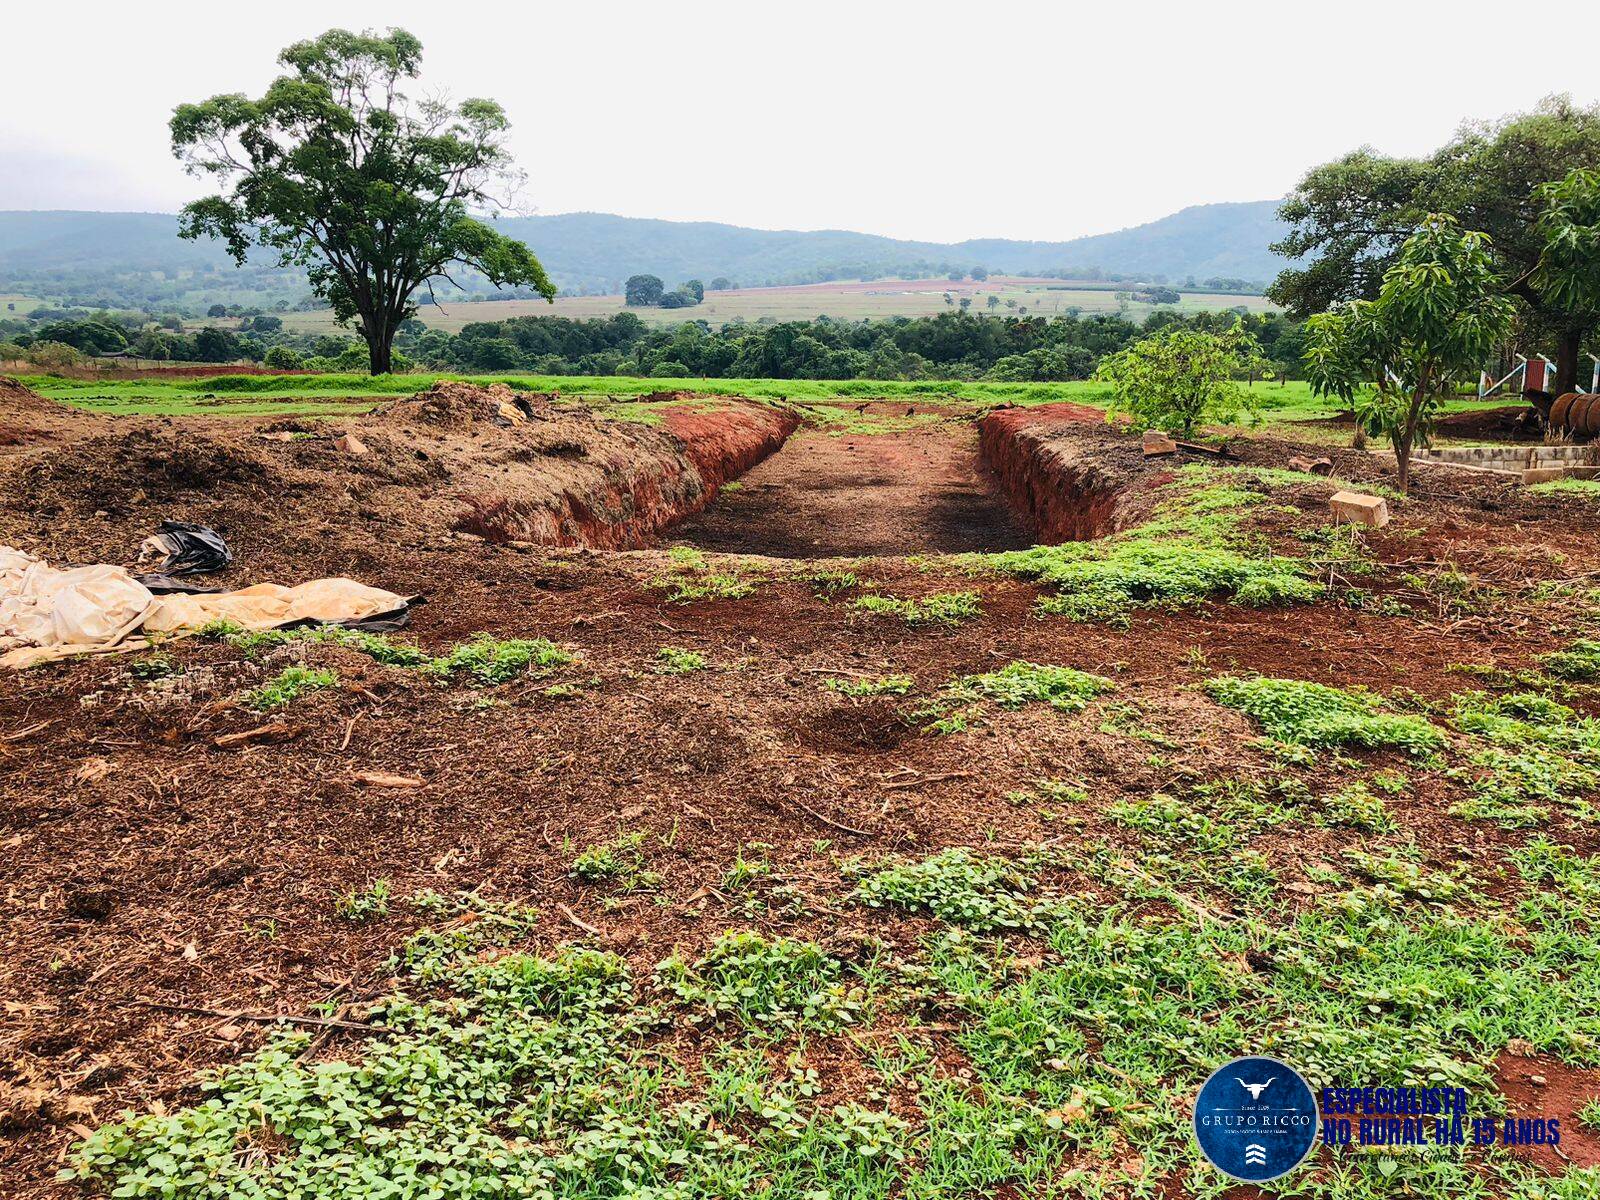
[(13, 5), (0, 210), (171, 211), (174, 104), (398, 24), (491, 96), (536, 213), (1062, 240), (1278, 197), (1363, 142), (1422, 154), (1600, 75), (1594, 3)]

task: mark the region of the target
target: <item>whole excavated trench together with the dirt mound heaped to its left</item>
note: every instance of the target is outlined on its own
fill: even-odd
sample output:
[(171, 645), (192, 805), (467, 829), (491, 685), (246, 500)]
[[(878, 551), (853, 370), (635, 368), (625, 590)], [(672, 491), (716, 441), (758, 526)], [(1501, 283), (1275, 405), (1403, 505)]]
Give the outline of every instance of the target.
[(838, 405), (861, 429), (838, 432), (738, 398), (637, 403), (648, 421), (446, 382), (331, 429), (246, 419), (174, 430), (62, 410), (16, 386), (0, 389), (11, 434), (0, 440), (0, 514), (22, 534), (48, 534), (40, 544), (58, 557), (85, 560), (173, 512), (246, 539), (258, 563), (277, 547), (304, 565), (309, 523), (326, 547), (453, 531), (824, 558), (1096, 538), (1118, 528), (1144, 474), (1138, 448), (1075, 405), (978, 422), (939, 405)]

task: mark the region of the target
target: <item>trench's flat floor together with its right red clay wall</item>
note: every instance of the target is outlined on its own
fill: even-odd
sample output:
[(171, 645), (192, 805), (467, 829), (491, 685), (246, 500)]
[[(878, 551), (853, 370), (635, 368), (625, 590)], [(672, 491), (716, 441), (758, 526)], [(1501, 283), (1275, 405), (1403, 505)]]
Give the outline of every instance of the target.
[[(1082, 541), (1118, 525), (1130, 482), (1085, 443), (1096, 410), (1000, 410), (907, 432), (805, 429), (662, 541), (722, 554), (829, 558), (960, 554)], [(1128, 467), (1136, 464), (1130, 462)]]

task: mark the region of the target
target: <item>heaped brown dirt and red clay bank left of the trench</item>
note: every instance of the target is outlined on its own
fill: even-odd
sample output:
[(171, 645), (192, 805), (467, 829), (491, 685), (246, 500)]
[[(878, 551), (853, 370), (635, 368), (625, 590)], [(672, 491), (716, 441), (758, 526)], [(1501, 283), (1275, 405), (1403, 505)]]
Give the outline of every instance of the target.
[[(469, 533), (496, 542), (642, 546), (696, 512), (778, 446), (795, 419), (739, 400), (661, 405), (656, 424), (506, 387), (443, 384), (339, 422), (179, 424), (62, 410), (27, 389), (0, 395), (0, 510), (22, 542), (69, 534), (96, 514), (130, 536), (178, 510), (224, 538), (304, 547), (402, 544)], [(355, 434), (368, 453), (341, 450)], [(142, 536), (142, 534), (139, 534)], [(138, 544), (138, 536), (133, 542)]]

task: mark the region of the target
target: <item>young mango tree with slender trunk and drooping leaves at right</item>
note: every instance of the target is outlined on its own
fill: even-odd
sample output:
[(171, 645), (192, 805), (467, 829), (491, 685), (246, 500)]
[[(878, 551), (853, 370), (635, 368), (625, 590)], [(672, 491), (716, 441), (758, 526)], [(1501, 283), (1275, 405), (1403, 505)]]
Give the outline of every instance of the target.
[(1434, 213), (1384, 272), (1378, 299), (1306, 322), (1312, 390), (1346, 403), (1363, 394), (1357, 419), (1389, 438), (1400, 491), (1408, 491), (1418, 438), (1432, 429), (1440, 402), (1506, 338), (1514, 315), (1488, 237)]

